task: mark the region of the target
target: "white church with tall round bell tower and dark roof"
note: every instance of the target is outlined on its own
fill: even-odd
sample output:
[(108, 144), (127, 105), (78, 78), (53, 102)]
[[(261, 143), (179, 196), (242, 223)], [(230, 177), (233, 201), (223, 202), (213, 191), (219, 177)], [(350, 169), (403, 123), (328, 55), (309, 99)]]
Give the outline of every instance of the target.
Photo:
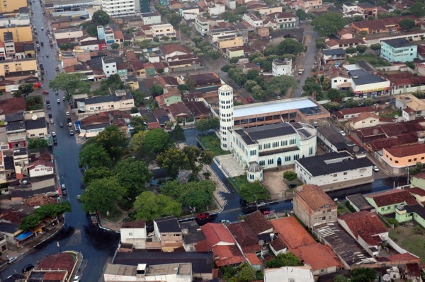
[(293, 165), (295, 160), (316, 155), (317, 130), (310, 124), (280, 122), (259, 127), (234, 127), (233, 89), (218, 89), (220, 102), (220, 145), (232, 151), (246, 168), (249, 182), (262, 180), (263, 169)]

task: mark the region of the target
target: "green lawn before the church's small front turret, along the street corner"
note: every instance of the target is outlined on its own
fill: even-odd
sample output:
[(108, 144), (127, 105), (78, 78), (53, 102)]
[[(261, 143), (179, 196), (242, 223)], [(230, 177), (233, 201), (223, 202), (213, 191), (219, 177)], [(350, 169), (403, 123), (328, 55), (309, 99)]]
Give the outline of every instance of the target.
[(249, 203), (268, 200), (271, 198), (266, 188), (264, 188), (259, 182), (249, 183), (246, 181), (246, 175), (229, 177), (228, 180), (239, 193), (239, 196)]

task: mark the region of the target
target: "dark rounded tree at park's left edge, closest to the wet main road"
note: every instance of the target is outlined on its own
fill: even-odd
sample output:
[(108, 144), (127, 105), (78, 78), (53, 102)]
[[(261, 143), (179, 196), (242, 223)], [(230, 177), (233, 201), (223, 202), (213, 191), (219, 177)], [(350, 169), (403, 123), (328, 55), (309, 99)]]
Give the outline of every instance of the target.
[(103, 146), (98, 143), (84, 144), (79, 151), (79, 163), (89, 168), (111, 168), (112, 160)]

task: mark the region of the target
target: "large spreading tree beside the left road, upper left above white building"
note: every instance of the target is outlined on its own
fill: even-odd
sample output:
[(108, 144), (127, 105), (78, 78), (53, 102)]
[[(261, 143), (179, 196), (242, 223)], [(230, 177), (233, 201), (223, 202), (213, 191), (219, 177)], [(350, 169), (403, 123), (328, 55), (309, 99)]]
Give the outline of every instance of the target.
[(49, 88), (62, 90), (69, 97), (77, 93), (89, 93), (91, 82), (87, 80), (85, 74), (77, 73), (60, 73), (49, 82)]

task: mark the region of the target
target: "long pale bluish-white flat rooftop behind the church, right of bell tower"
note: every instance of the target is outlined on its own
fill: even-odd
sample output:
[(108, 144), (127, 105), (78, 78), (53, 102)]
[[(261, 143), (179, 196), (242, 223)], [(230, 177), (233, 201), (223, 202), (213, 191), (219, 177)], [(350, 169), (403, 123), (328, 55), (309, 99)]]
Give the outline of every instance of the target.
[(259, 102), (251, 105), (234, 107), (234, 118), (254, 116), (256, 114), (267, 114), (269, 112), (283, 112), (287, 110), (301, 110), (309, 107), (317, 107), (309, 98), (297, 98), (278, 100), (271, 102)]

